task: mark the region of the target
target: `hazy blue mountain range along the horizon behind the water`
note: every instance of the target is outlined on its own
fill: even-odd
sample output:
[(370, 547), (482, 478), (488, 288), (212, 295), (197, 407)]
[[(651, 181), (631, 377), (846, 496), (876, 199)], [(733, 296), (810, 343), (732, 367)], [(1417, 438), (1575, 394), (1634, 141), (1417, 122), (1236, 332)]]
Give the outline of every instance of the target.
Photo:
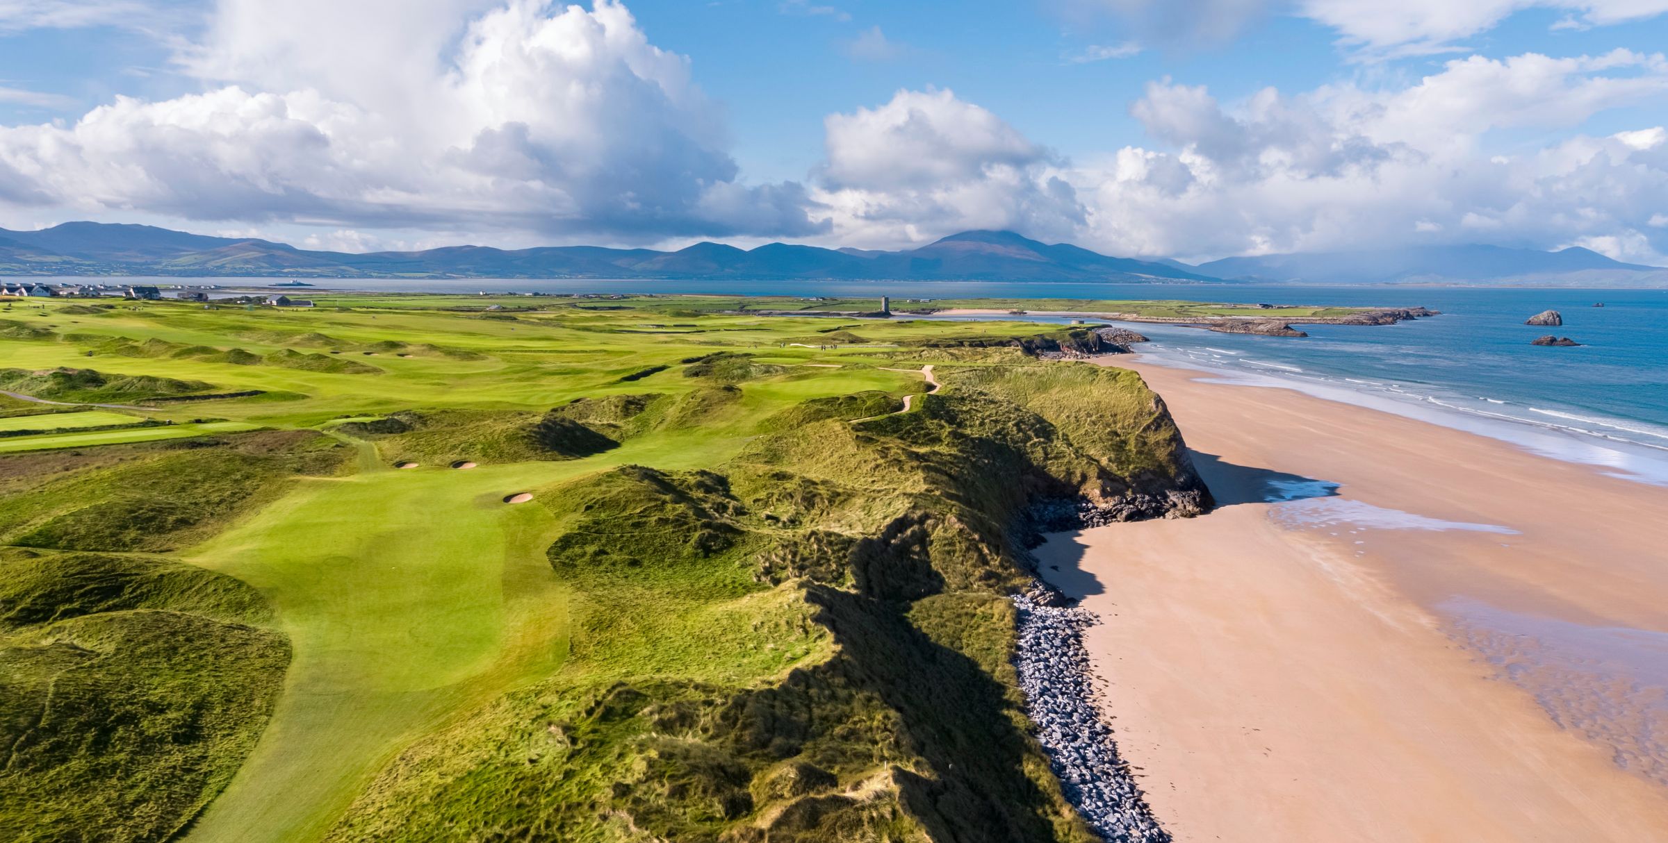
[(1571, 247), (1413, 247), (1176, 260), (1101, 255), (1012, 232), (962, 232), (919, 248), (876, 252), (767, 243), (652, 248), (442, 247), (424, 252), (320, 252), (259, 238), (193, 235), (150, 225), (72, 222), (0, 228), (0, 275), (162, 275), (289, 278), (801, 278), (1113, 283), (1526, 283), (1668, 287), (1668, 270)]

